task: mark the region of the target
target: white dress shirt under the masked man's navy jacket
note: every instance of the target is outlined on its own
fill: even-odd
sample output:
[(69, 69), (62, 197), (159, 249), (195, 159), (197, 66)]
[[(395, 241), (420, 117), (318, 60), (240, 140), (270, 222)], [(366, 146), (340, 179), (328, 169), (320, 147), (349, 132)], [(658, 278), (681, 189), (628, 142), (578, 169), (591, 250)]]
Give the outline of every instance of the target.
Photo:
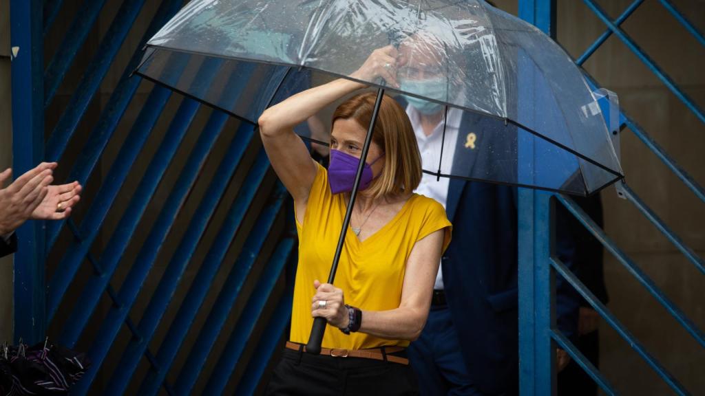
[[(411, 120), (411, 125), (414, 128), (416, 140), (419, 143), (419, 151), (421, 151), (422, 167), (427, 171), (438, 171), (439, 160), (441, 156), (441, 142), (443, 140), (443, 119), (434, 128), (431, 135), (424, 134), (421, 126), (421, 115), (414, 106), (407, 106), (406, 113)], [(455, 144), (458, 142), (458, 129), (460, 128), (460, 119), (462, 111), (459, 109), (448, 109), (448, 125), (446, 125), (446, 143), (443, 144), (443, 163), (441, 163), (441, 173), (449, 174), (453, 167), (453, 155), (455, 154)], [(443, 209), (446, 209), (446, 201), (448, 200), (448, 178), (436, 178), (434, 175), (424, 173), (419, 187), (416, 189), (417, 194), (425, 195), (429, 198), (436, 199)], [(443, 289), (443, 271), (439, 266), (439, 272), (436, 275), (436, 284), (434, 289)]]

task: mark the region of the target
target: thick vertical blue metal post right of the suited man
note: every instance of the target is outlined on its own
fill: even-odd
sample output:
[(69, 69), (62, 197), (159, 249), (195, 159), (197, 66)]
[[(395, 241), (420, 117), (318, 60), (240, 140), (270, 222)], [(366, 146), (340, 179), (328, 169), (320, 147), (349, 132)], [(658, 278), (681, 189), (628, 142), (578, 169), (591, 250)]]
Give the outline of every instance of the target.
[[(520, 0), (519, 16), (547, 34), (556, 34), (555, 0)], [(522, 104), (530, 103), (532, 66), (520, 66), (519, 87)], [(532, 106), (520, 106), (533, 112)], [(522, 115), (529, 119), (532, 113)], [(531, 178), (527, 164), (534, 160), (531, 140), (520, 140), (519, 175)], [(523, 166), (522, 166), (523, 165)], [(551, 194), (525, 188), (518, 189), (519, 225), (519, 369), (521, 395), (555, 394), (554, 361), (551, 345), (553, 321), (551, 299), (553, 273), (551, 271)]]

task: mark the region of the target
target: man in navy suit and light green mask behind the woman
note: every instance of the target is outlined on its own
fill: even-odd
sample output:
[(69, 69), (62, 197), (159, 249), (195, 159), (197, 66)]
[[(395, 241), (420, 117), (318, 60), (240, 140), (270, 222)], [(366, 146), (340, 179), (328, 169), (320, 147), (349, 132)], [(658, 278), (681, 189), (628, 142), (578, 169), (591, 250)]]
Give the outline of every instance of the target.
[[(393, 66), (398, 70), (393, 71), (398, 72), (403, 91), (448, 101), (453, 92), (439, 89), (434, 76), (439, 70), (442, 73), (434, 67), (438, 56), (432, 49), (419, 51), (419, 47), (432, 46), (421, 43), (410, 48), (415, 40), (423, 39), (411, 37), (400, 44)], [(424, 169), (517, 182), (517, 136), (521, 133), (517, 128), (460, 109), (449, 109), (446, 114), (443, 106), (412, 96), (399, 101), (415, 129)], [(453, 238), (441, 259), (427, 324), (409, 348), (422, 395), (517, 395), (517, 189), (426, 174), (417, 192), (441, 202), (453, 223)], [(556, 245), (561, 261), (570, 268), (575, 248), (566, 220), (557, 218)], [(562, 278), (556, 284), (558, 328), (572, 337), (579, 299)], [(561, 350), (556, 353), (558, 369), (562, 369), (568, 355)]]

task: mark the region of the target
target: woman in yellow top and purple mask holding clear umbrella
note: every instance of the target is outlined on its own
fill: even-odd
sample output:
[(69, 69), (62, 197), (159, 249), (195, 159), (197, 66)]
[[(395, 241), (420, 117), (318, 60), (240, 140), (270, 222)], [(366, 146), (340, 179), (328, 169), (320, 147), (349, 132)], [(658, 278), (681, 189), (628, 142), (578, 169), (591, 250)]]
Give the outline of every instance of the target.
[[(395, 51), (374, 51), (350, 77), (396, 84), (389, 73)], [(269, 160), (293, 196), (299, 236), (290, 341), (269, 383), (270, 395), (417, 394), (405, 347), (426, 323), (450, 222), (441, 204), (412, 193), (422, 175), (419, 150), (404, 109), (390, 97), (381, 102), (335, 285), (319, 282), (331, 268), (375, 95), (357, 94), (333, 113), (327, 171), (293, 128), (364, 87), (335, 80), (259, 118)], [(321, 354), (306, 354), (317, 316), (329, 324)]]

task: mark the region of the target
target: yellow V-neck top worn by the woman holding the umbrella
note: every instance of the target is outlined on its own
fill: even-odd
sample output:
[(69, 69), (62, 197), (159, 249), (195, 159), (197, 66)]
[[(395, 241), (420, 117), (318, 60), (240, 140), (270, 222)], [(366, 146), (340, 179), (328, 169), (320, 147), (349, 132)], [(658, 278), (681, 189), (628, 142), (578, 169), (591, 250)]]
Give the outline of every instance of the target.
[[(332, 194), (328, 171), (318, 165), (309, 193), (303, 224), (296, 222), (299, 236), (298, 269), (294, 287), (290, 340), (306, 344), (313, 326), (313, 281), (328, 275), (336, 253), (343, 218), (343, 194)], [(446, 229), (443, 251), (450, 243), (450, 221), (434, 199), (413, 194), (396, 216), (374, 235), (360, 242), (348, 230), (333, 285), (343, 290), (345, 304), (364, 311), (387, 311), (399, 307), (406, 261), (417, 240)], [(364, 323), (364, 315), (362, 316)], [(322, 347), (367, 349), (384, 345), (405, 347), (407, 340), (386, 340), (364, 333), (345, 335), (326, 326)]]

